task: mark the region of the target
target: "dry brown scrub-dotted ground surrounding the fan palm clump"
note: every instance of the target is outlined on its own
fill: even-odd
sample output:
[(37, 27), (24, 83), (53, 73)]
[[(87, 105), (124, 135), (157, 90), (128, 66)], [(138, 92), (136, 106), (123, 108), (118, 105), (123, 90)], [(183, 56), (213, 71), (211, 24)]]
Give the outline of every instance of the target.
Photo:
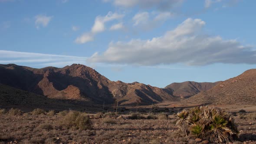
[[(256, 144), (256, 120), (249, 115), (252, 113), (234, 116), (241, 134), (238, 141)], [(175, 115), (169, 115), (168, 120), (132, 120), (124, 115), (108, 122), (94, 117), (90, 115), (92, 129), (80, 131), (63, 126), (59, 114), (0, 115), (0, 144), (196, 144), (193, 138), (176, 137)]]

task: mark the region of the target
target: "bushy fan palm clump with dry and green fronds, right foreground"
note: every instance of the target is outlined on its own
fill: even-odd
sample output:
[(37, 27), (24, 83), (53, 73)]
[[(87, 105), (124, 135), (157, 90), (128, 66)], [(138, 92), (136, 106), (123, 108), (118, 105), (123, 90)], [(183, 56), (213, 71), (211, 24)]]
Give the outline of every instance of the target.
[(213, 143), (234, 142), (239, 132), (230, 113), (219, 108), (201, 106), (177, 114), (181, 137), (190, 135)]

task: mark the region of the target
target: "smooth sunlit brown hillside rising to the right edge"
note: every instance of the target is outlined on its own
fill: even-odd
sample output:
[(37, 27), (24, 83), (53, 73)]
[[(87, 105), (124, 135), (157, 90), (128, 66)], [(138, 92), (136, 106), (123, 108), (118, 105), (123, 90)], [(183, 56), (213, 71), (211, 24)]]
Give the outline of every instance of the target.
[(206, 92), (201, 92), (183, 103), (191, 104), (256, 104), (256, 69), (250, 69), (234, 78), (220, 82)]

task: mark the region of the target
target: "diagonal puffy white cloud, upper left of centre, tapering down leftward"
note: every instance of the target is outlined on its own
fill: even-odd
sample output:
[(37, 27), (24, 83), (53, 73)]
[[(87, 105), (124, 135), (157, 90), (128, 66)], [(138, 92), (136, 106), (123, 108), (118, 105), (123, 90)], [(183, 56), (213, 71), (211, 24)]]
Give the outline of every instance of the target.
[(90, 32), (84, 33), (75, 39), (76, 43), (87, 43), (93, 41), (95, 34), (105, 30), (105, 23), (123, 18), (125, 15), (108, 12), (106, 16), (97, 16)]

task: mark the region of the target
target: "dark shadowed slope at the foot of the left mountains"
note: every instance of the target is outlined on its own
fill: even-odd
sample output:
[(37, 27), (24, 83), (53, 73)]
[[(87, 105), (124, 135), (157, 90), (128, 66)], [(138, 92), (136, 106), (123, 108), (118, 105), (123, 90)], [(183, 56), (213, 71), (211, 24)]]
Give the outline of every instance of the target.
[[(23, 111), (31, 111), (35, 108), (43, 108), (46, 110), (84, 110), (92, 107), (89, 103), (77, 103), (69, 100), (57, 100), (47, 98), (42, 95), (23, 91), (8, 85), (0, 84), (0, 108), (20, 108)], [(96, 111), (102, 108), (88, 109), (88, 111)]]

